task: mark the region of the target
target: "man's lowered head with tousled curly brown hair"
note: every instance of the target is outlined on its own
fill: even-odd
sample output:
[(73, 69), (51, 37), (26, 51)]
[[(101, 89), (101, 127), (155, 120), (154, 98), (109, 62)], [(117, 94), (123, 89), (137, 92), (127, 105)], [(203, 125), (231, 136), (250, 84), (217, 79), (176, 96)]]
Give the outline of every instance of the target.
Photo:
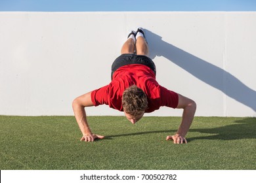
[(135, 124), (148, 108), (148, 99), (143, 90), (133, 85), (123, 92), (122, 105), (126, 118)]

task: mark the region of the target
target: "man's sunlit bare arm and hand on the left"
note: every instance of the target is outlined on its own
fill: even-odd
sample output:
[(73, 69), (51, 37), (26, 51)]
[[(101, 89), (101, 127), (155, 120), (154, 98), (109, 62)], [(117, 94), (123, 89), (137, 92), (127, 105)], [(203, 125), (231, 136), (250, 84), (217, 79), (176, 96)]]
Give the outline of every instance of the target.
[(81, 133), (83, 134), (81, 141), (85, 141), (85, 142), (87, 141), (91, 142), (91, 141), (94, 141), (95, 139), (104, 138), (104, 136), (96, 135), (91, 132), (91, 129), (87, 122), (86, 113), (85, 113), (85, 107), (91, 107), (91, 106), (93, 106), (93, 102), (91, 100), (91, 92), (85, 93), (84, 95), (77, 97), (76, 99), (74, 99), (72, 103), (72, 107), (75, 114), (75, 120), (77, 121), (77, 124), (79, 125), (79, 128), (81, 130)]

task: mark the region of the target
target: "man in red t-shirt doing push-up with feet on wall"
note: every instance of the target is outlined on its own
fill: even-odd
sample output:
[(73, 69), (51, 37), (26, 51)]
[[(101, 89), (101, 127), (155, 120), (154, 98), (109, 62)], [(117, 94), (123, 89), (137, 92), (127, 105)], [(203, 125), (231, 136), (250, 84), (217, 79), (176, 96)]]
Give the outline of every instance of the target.
[[(137, 54), (134, 54), (135, 51)], [(104, 138), (91, 131), (85, 113), (85, 107), (103, 104), (123, 111), (132, 124), (138, 122), (145, 112), (153, 112), (161, 106), (183, 108), (177, 133), (166, 137), (166, 140), (173, 140), (175, 144), (187, 143), (185, 135), (196, 112), (194, 101), (163, 88), (156, 81), (156, 66), (148, 58), (148, 44), (142, 28), (129, 33), (121, 48), (121, 56), (112, 64), (112, 82), (73, 101), (75, 119), (83, 134), (81, 141)]]

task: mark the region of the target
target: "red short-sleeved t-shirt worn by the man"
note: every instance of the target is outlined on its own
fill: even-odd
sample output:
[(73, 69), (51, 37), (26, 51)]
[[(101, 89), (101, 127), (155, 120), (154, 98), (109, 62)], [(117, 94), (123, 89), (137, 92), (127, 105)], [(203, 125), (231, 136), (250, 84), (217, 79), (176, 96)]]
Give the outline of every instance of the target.
[(125, 65), (117, 69), (110, 84), (91, 93), (93, 104), (105, 104), (123, 111), (123, 91), (133, 84), (141, 88), (148, 97), (148, 109), (145, 112), (153, 112), (161, 106), (176, 108), (178, 105), (178, 94), (160, 86), (154, 72), (146, 65), (140, 64)]

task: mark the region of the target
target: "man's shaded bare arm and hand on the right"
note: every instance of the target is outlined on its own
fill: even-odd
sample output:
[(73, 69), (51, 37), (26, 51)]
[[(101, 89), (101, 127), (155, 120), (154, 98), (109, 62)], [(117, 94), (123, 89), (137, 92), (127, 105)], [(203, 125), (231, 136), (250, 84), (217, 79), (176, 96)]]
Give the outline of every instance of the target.
[(186, 133), (192, 124), (194, 114), (196, 112), (196, 103), (192, 99), (188, 99), (179, 94), (179, 103), (177, 108), (183, 108), (182, 121), (175, 135), (167, 136), (166, 140), (172, 139), (175, 144), (186, 143)]

